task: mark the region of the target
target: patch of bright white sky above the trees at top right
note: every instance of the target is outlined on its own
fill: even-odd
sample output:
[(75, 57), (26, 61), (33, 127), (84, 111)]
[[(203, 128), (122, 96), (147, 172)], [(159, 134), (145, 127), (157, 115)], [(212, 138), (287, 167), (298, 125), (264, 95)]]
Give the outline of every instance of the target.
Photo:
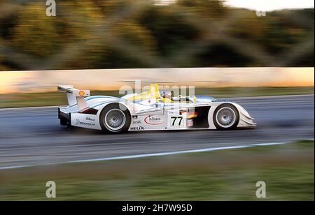
[(281, 10), (288, 8), (314, 8), (314, 0), (225, 0), (229, 6), (252, 10)]

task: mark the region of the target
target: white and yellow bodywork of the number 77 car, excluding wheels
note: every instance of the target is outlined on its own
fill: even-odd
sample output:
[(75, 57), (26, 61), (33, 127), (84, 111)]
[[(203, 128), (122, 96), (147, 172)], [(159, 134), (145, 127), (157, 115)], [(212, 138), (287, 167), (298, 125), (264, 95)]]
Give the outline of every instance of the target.
[[(131, 94), (122, 98), (90, 96), (90, 91), (80, 91), (72, 86), (59, 86), (66, 91), (69, 105), (59, 107), (62, 125), (102, 130), (100, 115), (106, 105), (118, 103), (131, 115), (129, 131), (216, 129), (214, 112), (222, 104), (230, 104), (239, 112), (238, 128), (255, 127), (253, 118), (246, 110), (232, 101), (216, 100), (209, 96), (194, 96), (182, 101), (160, 99), (157, 85), (148, 92)], [(85, 97), (86, 96), (86, 97)], [(77, 102), (74, 101), (77, 100)]]

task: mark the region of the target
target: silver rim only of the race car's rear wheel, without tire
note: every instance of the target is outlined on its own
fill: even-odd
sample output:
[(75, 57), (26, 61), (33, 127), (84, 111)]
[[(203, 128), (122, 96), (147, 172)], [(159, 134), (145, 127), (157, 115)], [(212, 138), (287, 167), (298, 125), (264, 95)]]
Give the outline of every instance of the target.
[(126, 117), (122, 110), (112, 109), (106, 113), (104, 122), (107, 128), (117, 131), (125, 125)]

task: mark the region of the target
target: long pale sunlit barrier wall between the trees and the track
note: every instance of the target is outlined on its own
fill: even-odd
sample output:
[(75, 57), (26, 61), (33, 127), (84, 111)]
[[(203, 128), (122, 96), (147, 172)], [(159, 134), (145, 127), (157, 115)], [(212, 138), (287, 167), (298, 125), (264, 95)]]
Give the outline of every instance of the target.
[[(167, 74), (167, 75), (166, 75)], [(195, 74), (195, 75), (193, 75)], [(137, 68), (0, 73), (0, 94), (54, 91), (59, 84), (116, 90), (135, 80), (195, 87), (314, 86), (314, 68)]]

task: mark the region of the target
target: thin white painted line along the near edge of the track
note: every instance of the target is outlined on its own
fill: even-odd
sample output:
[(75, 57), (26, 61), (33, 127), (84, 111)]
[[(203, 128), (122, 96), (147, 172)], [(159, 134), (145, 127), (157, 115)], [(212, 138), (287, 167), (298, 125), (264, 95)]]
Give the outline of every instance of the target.
[[(308, 141), (314, 141), (314, 138), (309, 139)], [(239, 146), (231, 146), (231, 147), (214, 147), (214, 148), (205, 148), (205, 149), (193, 149), (186, 151), (169, 151), (162, 153), (153, 153), (153, 154), (137, 154), (130, 156), (116, 156), (109, 158), (94, 158), (94, 159), (85, 159), (78, 161), (66, 161), (60, 163), (44, 163), (41, 165), (13, 165), (8, 167), (0, 168), (0, 170), (12, 170), (19, 168), (31, 168), (37, 166), (45, 166), (45, 165), (59, 165), (59, 164), (67, 164), (67, 163), (88, 163), (88, 162), (97, 162), (97, 161), (115, 161), (115, 160), (124, 160), (124, 159), (134, 159), (134, 158), (148, 158), (148, 157), (156, 157), (156, 156), (169, 156), (176, 154), (190, 154), (190, 153), (198, 153), (198, 152), (207, 152), (207, 151), (219, 151), (219, 150), (227, 150), (227, 149), (244, 149), (251, 147), (261, 147), (261, 146), (272, 146), (272, 145), (280, 145), (280, 144), (288, 144), (291, 142), (267, 142), (267, 143), (258, 143), (258, 144), (248, 144), (248, 145), (239, 145)]]

